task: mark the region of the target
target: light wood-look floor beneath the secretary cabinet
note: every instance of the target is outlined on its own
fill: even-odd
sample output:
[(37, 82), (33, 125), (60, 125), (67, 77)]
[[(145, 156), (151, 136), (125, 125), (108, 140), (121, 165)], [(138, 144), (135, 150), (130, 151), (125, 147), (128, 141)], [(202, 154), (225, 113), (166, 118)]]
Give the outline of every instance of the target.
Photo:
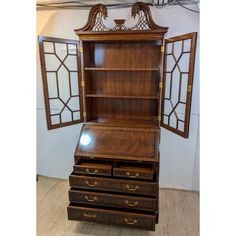
[(37, 236), (198, 236), (199, 194), (161, 189), (156, 231), (127, 229), (67, 220), (68, 180), (39, 176), (37, 182)]

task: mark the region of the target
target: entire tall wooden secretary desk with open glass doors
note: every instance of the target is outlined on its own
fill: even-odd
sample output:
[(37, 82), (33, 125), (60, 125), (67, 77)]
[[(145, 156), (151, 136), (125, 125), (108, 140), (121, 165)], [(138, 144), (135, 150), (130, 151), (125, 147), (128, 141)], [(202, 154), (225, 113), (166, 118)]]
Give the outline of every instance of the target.
[(84, 122), (69, 220), (155, 230), (160, 126), (188, 137), (196, 33), (164, 39), (141, 2), (131, 15), (109, 28), (98, 4), (80, 41), (39, 37), (46, 117), (48, 129)]

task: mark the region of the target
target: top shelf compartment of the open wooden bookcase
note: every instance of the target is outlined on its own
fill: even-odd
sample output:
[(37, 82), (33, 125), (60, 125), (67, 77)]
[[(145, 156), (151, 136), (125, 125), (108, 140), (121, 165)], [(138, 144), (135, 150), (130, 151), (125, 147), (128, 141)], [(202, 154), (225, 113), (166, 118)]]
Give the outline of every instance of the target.
[[(160, 45), (161, 41), (85, 42), (85, 70), (159, 70)], [(144, 54), (148, 56), (144, 58)]]

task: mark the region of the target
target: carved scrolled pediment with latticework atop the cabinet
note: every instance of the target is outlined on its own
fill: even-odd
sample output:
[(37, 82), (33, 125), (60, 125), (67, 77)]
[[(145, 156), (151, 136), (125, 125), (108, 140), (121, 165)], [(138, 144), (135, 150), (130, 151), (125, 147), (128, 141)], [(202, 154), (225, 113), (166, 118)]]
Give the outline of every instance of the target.
[(104, 24), (107, 18), (107, 7), (103, 4), (95, 5), (89, 13), (87, 24), (76, 31), (124, 31), (124, 30), (159, 30), (167, 29), (157, 25), (151, 15), (150, 8), (143, 2), (136, 2), (131, 9), (131, 16), (136, 18), (138, 16), (137, 23), (128, 28), (125, 26), (124, 19), (114, 20), (116, 25), (113, 28), (109, 28)]

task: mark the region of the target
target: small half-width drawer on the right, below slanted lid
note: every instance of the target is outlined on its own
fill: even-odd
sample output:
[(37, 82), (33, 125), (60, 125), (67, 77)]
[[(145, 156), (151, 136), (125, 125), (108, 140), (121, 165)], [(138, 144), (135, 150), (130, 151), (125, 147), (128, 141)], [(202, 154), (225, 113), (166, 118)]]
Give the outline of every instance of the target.
[(152, 180), (154, 167), (153, 163), (117, 162), (113, 168), (113, 176)]

